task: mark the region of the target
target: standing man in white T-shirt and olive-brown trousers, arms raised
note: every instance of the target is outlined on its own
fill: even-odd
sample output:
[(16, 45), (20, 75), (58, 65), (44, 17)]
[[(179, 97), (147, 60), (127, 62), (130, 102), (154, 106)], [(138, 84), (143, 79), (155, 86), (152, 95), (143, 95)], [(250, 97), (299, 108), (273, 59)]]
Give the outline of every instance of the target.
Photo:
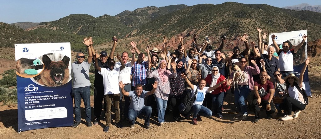
[[(117, 39), (114, 37), (114, 45), (116, 46)], [(112, 49), (113, 51), (113, 49)], [(100, 54), (96, 54), (95, 57), (95, 69), (98, 70), (98, 73), (103, 77), (104, 83), (104, 100), (106, 102), (106, 110), (105, 110), (105, 117), (106, 117), (106, 127), (104, 128), (104, 132), (107, 133), (109, 130), (110, 122), (111, 122), (111, 103), (114, 101), (115, 106), (115, 126), (118, 128), (123, 128), (124, 126), (119, 123), (120, 121), (120, 110), (119, 110), (119, 102), (120, 102), (120, 92), (118, 85), (118, 77), (121, 70), (125, 68), (124, 62), (121, 60), (120, 57), (117, 57), (121, 63), (121, 67), (115, 68), (115, 61), (110, 59), (107, 61), (108, 69), (100, 68), (98, 66), (98, 57)]]

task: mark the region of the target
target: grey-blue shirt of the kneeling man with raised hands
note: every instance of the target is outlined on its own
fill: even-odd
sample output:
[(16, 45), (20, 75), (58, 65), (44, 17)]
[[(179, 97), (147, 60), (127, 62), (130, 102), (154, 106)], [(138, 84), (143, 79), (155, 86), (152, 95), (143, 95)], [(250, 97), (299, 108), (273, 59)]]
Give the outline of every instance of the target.
[(130, 91), (129, 97), (131, 98), (130, 100), (130, 105), (129, 109), (133, 110), (142, 110), (142, 108), (145, 106), (145, 96), (147, 95), (148, 91), (143, 90), (142, 94), (138, 97), (136, 94), (136, 91)]

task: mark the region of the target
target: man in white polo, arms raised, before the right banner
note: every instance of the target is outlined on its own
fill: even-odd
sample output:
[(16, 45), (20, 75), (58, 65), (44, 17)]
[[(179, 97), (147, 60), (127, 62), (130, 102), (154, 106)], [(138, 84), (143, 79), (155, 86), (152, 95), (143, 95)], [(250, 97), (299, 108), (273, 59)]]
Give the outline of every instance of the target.
[(292, 45), (291, 50), (289, 49), (290, 43), (288, 41), (283, 42), (281, 50), (279, 45), (277, 45), (277, 43), (275, 42), (276, 36), (272, 35), (271, 37), (276, 52), (279, 55), (280, 73), (282, 74), (282, 77), (286, 77), (290, 75), (290, 73), (294, 74), (293, 55), (295, 55), (295, 53), (297, 53), (300, 47), (304, 44), (305, 40), (307, 39), (307, 36), (304, 34), (302, 37), (302, 41), (299, 43), (299, 45)]

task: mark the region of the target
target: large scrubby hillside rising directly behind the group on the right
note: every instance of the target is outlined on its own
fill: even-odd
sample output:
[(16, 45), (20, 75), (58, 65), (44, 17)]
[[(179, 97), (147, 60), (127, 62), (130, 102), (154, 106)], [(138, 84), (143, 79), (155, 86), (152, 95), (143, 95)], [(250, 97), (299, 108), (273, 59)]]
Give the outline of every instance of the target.
[(186, 44), (190, 45), (191, 35), (196, 33), (199, 42), (209, 36), (213, 45), (218, 46), (219, 37), (226, 34), (227, 48), (232, 48), (244, 45), (238, 40), (242, 33), (248, 33), (249, 40), (256, 41), (256, 27), (260, 27), (267, 33), (306, 29), (308, 39), (313, 41), (321, 38), (320, 20), (321, 13), (293, 11), (266, 4), (199, 4), (152, 20), (131, 31), (127, 37), (142, 37), (140, 43), (144, 47), (145, 44), (159, 46), (161, 37), (167, 36), (172, 41), (171, 45), (177, 46), (178, 35), (187, 37)]

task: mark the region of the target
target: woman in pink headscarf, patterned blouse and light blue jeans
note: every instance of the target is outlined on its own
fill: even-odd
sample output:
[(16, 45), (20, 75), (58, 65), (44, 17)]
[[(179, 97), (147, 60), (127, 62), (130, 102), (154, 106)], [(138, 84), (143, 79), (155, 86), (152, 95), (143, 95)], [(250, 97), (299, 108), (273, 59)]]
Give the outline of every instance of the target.
[(155, 78), (155, 81), (158, 82), (154, 95), (160, 125), (163, 125), (165, 121), (164, 116), (169, 97), (169, 78), (176, 78), (176, 63), (172, 66), (173, 73), (166, 70), (166, 65), (166, 60), (161, 60), (157, 70), (152, 71), (152, 65), (150, 64), (147, 71), (147, 78)]

